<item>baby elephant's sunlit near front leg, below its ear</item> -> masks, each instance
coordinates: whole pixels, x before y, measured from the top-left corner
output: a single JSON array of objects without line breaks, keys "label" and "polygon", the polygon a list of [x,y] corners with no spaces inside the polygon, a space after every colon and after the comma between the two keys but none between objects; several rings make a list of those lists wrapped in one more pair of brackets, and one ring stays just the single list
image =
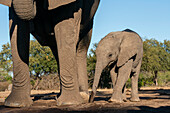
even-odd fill
[{"label": "baby elephant's sunlit near front leg, below its ear", "polygon": [[109,100],[110,102],[123,102],[122,90],[126,81],[130,76],[131,69],[132,69],[132,62],[133,60],[131,59],[127,63],[125,63],[122,67],[119,68],[116,85],[113,88],[114,92]]}]

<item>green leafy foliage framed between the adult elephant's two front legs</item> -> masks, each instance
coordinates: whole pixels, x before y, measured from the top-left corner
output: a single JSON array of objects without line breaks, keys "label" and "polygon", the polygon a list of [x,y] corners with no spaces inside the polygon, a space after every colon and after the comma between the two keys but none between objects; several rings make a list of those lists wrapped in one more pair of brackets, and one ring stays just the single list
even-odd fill
[{"label": "green leafy foliage framed between the adult elephant's two front legs", "polygon": [[57,72],[57,62],[49,47],[31,40],[29,70],[31,75],[41,76]]}]

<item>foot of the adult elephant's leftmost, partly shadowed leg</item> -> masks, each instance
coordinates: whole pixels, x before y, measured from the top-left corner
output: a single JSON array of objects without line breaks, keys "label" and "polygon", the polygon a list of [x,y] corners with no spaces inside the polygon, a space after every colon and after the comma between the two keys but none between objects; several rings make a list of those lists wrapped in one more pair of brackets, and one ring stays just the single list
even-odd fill
[{"label": "foot of the adult elephant's leftmost, partly shadowed leg", "polygon": [[32,99],[25,92],[13,91],[6,98],[4,105],[8,107],[30,107],[33,104]]}]

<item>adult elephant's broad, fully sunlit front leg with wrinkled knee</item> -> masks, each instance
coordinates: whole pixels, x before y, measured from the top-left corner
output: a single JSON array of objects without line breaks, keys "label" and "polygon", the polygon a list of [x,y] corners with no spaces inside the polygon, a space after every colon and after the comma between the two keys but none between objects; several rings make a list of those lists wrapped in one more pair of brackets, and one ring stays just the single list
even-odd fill
[{"label": "adult elephant's broad, fully sunlit front leg with wrinkled knee", "polygon": [[58,105],[81,104],[83,99],[79,93],[78,72],[76,61],[76,45],[80,29],[80,11],[74,18],[63,20],[55,26],[57,41],[61,95],[57,100]]}]

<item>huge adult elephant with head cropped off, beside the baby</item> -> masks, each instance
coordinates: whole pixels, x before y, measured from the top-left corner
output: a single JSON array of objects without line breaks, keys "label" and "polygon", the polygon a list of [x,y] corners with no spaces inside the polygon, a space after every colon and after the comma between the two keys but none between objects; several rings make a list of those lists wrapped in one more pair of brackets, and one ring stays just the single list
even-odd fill
[{"label": "huge adult elephant with head cropped off, beside the baby", "polygon": [[59,65],[61,95],[58,105],[88,100],[86,54],[93,18],[100,0],[1,0],[9,6],[10,41],[13,59],[13,88],[5,106],[26,107],[30,98],[30,33],[49,46]]}]

